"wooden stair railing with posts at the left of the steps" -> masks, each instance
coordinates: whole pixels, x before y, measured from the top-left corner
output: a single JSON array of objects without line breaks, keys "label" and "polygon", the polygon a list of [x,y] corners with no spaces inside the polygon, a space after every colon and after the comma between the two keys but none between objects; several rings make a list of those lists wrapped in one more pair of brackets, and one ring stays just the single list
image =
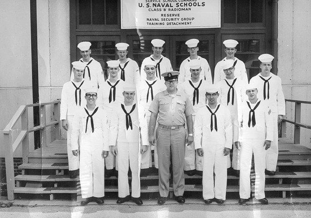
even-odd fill
[{"label": "wooden stair railing with posts at the left of the steps", "polygon": [[[53,105],[52,122],[46,122],[46,106]],[[29,133],[40,130],[40,140],[41,146],[47,145],[47,134],[46,127],[54,125],[52,131],[55,131],[55,139],[60,139],[60,100],[39,103],[39,104],[29,104],[20,106],[10,122],[1,131],[1,136],[3,137],[3,145],[5,147],[5,168],[6,168],[6,182],[7,182],[7,193],[8,200],[14,200],[14,188],[15,188],[15,177],[14,177],[14,162],[13,154],[22,145],[22,157],[23,163],[28,163],[29,155]],[[40,108],[40,125],[37,127],[28,127],[28,108],[39,107]],[[16,139],[12,140],[12,132],[17,124],[21,120],[21,131],[17,135]]]}]

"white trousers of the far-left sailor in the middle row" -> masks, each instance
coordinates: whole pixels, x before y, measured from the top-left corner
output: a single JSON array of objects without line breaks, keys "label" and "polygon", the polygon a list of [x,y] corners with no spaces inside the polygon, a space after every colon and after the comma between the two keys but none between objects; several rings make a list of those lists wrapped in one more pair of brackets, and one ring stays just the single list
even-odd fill
[{"label": "white trousers of the far-left sailor in the middle row", "polygon": [[71,150],[71,132],[72,132],[72,121],[74,116],[67,116],[68,130],[67,130],[67,155],[68,155],[68,166],[69,170],[79,169],[79,154],[74,156]]}]

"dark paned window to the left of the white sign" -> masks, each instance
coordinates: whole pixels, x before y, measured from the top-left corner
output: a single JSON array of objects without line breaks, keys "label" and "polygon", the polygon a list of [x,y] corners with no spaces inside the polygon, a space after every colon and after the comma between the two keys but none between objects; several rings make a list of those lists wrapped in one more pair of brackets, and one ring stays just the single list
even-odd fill
[{"label": "dark paned window to the left of the white sign", "polygon": [[117,0],[79,0],[78,25],[117,25]]}]

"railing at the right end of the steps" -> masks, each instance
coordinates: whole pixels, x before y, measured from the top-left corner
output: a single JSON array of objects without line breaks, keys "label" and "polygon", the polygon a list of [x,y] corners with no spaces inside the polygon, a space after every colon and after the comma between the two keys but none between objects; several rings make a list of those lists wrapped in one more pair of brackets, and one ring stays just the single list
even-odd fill
[{"label": "railing at the right end of the steps", "polygon": [[[294,102],[295,103],[295,120],[283,119],[282,130],[286,129],[286,123],[294,124],[294,144],[300,144],[300,127],[311,129],[310,125],[301,123],[301,104],[311,104],[310,101],[300,101],[285,99],[285,102]],[[286,131],[286,130],[285,130]]]}]

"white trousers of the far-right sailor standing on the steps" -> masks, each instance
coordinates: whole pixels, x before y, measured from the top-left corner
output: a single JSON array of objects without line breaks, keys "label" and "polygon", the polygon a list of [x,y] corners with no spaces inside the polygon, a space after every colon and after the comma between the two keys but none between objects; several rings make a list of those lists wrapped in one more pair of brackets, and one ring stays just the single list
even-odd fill
[{"label": "white trousers of the far-right sailor standing on the steps", "polygon": [[276,171],[278,156],[278,129],[277,129],[277,113],[272,113],[273,118],[273,142],[266,152],[266,169]]}]

